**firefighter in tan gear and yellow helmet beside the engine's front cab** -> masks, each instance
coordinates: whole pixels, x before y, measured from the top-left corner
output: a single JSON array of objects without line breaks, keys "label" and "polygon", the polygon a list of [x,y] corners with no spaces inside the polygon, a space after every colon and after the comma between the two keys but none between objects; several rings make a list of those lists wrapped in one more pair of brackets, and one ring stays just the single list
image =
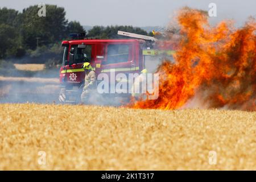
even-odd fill
[{"label": "firefighter in tan gear and yellow helmet beside the engine's front cab", "polygon": [[90,63],[86,62],[82,65],[85,71],[84,88],[82,89],[81,101],[88,102],[90,93],[96,89],[96,73],[92,70]]}]

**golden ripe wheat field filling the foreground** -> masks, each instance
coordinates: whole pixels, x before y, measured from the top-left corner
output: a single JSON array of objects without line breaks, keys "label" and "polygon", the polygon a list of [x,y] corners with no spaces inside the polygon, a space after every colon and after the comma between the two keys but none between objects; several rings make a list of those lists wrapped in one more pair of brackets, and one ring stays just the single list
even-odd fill
[{"label": "golden ripe wheat field filling the foreground", "polygon": [[256,169],[256,112],[54,104],[0,110],[1,170]]}]

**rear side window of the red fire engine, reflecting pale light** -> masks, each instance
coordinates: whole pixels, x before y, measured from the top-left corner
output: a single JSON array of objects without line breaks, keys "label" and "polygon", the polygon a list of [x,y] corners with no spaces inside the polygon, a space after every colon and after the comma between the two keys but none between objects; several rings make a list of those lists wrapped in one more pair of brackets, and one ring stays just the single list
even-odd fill
[{"label": "rear side window of the red fire engine, reflecting pale light", "polygon": [[109,44],[106,63],[113,64],[129,61],[129,47],[129,44]]}]

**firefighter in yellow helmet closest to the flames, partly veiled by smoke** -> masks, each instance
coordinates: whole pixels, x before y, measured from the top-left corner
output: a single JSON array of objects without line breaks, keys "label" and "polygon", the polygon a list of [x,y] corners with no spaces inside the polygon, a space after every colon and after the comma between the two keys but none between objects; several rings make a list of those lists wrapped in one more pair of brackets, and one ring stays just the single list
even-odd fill
[{"label": "firefighter in yellow helmet closest to the flames, partly veiled by smoke", "polygon": [[[141,71],[141,74],[135,78],[133,86],[131,88],[131,96],[135,97],[135,98],[139,98],[140,96],[142,96],[143,99],[146,98],[146,93],[140,93],[142,91],[142,88],[140,88],[140,86],[145,86],[143,84],[141,84],[142,82],[146,82],[147,84],[147,69],[143,69]],[[136,88],[139,88],[137,91],[139,91],[139,93],[136,93]],[[146,89],[146,88],[144,88]]]}]

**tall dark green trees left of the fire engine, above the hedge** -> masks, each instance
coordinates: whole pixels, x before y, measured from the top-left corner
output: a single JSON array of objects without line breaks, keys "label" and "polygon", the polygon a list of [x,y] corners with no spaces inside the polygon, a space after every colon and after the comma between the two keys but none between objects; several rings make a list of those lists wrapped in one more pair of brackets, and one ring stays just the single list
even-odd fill
[{"label": "tall dark green trees left of the fire engine, above the hedge", "polygon": [[54,47],[70,31],[84,32],[79,22],[65,18],[63,7],[46,5],[47,16],[38,16],[39,7],[30,6],[19,13],[0,9],[0,59],[35,55],[39,47]]}]

